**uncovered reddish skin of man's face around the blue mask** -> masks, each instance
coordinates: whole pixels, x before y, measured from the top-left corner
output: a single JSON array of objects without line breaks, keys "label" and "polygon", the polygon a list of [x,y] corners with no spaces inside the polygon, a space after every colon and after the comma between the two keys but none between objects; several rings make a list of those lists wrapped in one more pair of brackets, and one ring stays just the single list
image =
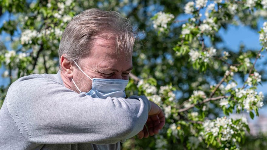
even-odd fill
[{"label": "uncovered reddish skin of man's face around the blue mask", "polygon": [[[129,73],[133,68],[132,55],[126,56],[120,52],[119,57],[117,56],[113,38],[96,38],[90,48],[89,56],[80,64],[90,78],[129,80]],[[89,92],[92,89],[92,80],[77,68],[74,70],[73,80],[82,92]],[[72,89],[77,92],[74,84]]]}]

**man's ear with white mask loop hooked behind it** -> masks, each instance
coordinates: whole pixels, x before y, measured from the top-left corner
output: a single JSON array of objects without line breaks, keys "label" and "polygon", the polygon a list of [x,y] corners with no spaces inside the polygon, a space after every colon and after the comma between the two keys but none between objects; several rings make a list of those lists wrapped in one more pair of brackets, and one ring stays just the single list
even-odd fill
[{"label": "man's ear with white mask loop hooked behind it", "polygon": [[61,64],[61,69],[63,74],[67,77],[67,78],[72,78],[73,77],[73,65],[71,62],[69,62],[65,57],[65,55],[63,54],[60,57],[60,64]]}]

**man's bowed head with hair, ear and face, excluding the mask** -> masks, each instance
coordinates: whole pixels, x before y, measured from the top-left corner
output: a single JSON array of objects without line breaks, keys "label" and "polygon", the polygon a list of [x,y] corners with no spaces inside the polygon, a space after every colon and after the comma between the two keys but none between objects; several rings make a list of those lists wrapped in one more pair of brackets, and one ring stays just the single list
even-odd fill
[{"label": "man's bowed head with hair, ear and face, excluding the mask", "polygon": [[61,77],[66,87],[88,92],[90,78],[127,79],[132,69],[135,33],[130,21],[114,11],[88,9],[65,28],[59,45]]}]

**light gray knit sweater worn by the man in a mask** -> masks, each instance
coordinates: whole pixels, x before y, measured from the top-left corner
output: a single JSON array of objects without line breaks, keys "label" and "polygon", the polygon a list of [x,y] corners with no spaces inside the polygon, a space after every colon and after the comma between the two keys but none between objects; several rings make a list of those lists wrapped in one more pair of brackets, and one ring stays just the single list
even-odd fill
[{"label": "light gray knit sweater worn by the man in a mask", "polygon": [[78,94],[60,72],[25,76],[9,87],[0,110],[0,150],[118,150],[143,129],[149,111],[145,96]]}]

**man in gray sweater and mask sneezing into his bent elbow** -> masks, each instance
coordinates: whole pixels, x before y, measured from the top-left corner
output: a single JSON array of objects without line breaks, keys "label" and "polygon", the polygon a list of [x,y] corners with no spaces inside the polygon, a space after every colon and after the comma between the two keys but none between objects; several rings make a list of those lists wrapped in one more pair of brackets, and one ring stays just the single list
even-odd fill
[{"label": "man in gray sweater and mask sneezing into his bent elbow", "polygon": [[124,98],[134,39],[116,12],[75,16],[60,41],[59,72],[25,76],[8,89],[0,149],[120,149],[136,134],[157,134],[165,124],[161,108],[145,96]]}]

